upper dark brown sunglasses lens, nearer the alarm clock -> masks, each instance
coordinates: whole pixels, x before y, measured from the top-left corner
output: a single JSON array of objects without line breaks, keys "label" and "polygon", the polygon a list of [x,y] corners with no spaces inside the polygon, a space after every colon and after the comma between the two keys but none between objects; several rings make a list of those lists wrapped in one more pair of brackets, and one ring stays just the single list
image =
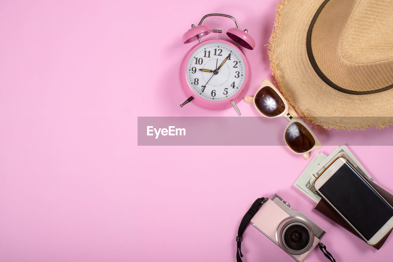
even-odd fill
[{"label": "upper dark brown sunglasses lens, nearer the alarm clock", "polygon": [[255,104],[258,110],[266,116],[276,116],[284,112],[283,99],[270,86],[264,86],[255,95]]}]

